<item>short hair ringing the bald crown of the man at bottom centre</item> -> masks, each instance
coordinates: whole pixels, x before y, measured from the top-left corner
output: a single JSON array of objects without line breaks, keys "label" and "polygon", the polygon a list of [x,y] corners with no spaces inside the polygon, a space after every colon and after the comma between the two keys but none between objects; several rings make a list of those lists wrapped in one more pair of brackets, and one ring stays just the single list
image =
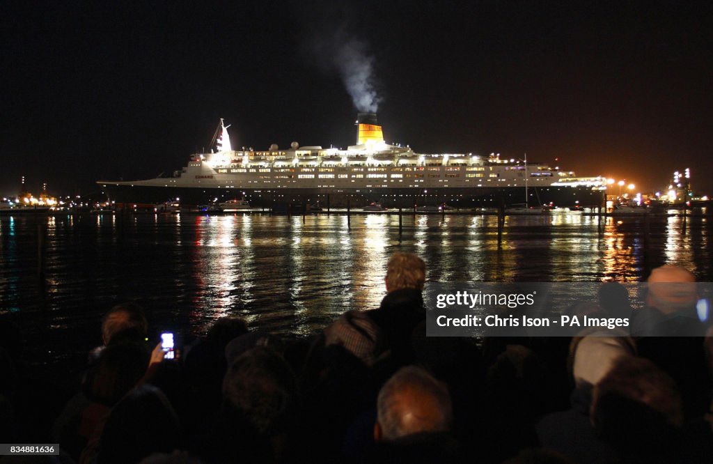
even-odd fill
[{"label": "short hair ringing the bald crown of the man at bottom centre", "polygon": [[[404,424],[404,418],[411,413],[409,405],[404,405],[403,395],[409,391],[426,395],[438,410],[435,418],[419,421],[417,425]],[[419,432],[446,432],[453,423],[453,405],[448,388],[436,380],[424,368],[409,365],[396,372],[379,391],[377,400],[377,420],[384,440],[396,440]]]}]

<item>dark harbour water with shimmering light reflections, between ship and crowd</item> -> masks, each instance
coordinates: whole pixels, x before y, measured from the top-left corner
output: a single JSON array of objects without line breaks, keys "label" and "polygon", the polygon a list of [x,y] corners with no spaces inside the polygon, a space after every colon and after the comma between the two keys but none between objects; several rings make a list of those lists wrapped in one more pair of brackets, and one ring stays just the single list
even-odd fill
[{"label": "dark harbour water with shimmering light reflections, between ship and crowd", "polygon": [[[712,281],[711,217],[597,218],[344,214],[0,217],[0,313],[43,363],[101,342],[101,315],[136,301],[150,326],[186,335],[239,315],[307,336],[383,298],[394,251],[424,258],[429,282],[640,281],[677,263]],[[645,236],[645,233],[647,236]]]}]

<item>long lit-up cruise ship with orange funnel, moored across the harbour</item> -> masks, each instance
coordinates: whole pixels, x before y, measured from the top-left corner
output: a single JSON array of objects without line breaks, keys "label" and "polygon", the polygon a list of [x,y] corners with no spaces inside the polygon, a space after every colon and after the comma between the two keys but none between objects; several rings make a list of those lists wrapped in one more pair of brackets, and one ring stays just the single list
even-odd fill
[{"label": "long lit-up cruise ship with orange funnel, moored across the harbour", "polygon": [[356,144],[341,148],[272,144],[265,151],[234,150],[223,120],[215,149],[190,156],[173,176],[138,181],[97,181],[118,202],[206,203],[240,198],[252,206],[363,206],[416,208],[473,206],[598,206],[606,180],[580,178],[526,158],[491,153],[416,153],[392,145],[376,114],[360,113]]}]

